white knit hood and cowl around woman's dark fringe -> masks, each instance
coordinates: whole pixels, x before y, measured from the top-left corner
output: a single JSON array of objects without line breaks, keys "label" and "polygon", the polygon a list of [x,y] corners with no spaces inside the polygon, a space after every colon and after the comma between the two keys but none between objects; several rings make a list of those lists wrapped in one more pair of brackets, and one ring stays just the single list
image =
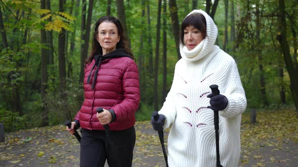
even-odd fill
[{"label": "white knit hood and cowl around woman's dark fringe", "polygon": [[[192,14],[202,14],[205,17],[206,24],[207,24],[206,26],[207,35],[206,35],[206,38],[203,39],[203,41],[192,50],[188,50],[187,47],[183,45],[180,41],[179,48],[180,48],[181,57],[187,61],[196,61],[206,56],[213,48],[217,38],[217,32],[218,32],[217,27],[213,22],[213,19],[206,12],[202,10],[193,10],[187,16]],[[183,39],[180,39],[180,40],[183,40]]]}]

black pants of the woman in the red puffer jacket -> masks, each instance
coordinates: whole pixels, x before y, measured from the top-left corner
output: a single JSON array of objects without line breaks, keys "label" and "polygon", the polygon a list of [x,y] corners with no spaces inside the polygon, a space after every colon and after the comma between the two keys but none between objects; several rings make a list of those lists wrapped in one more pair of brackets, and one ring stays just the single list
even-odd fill
[{"label": "black pants of the woman in the red puffer jacket", "polygon": [[[135,129],[110,131],[111,148],[104,130],[81,129],[80,166],[104,167],[106,159],[109,167],[132,165],[133,147],[135,144]],[[119,162],[117,162],[119,160]]]}]

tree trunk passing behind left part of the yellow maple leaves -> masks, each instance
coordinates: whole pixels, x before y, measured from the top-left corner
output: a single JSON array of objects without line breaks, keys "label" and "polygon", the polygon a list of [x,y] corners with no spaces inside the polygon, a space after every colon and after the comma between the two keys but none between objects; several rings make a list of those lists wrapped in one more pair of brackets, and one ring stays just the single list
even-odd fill
[{"label": "tree trunk passing behind left part of the yellow maple leaves", "polygon": [[[40,0],[40,9],[45,9],[45,0]],[[41,15],[40,18],[44,17]],[[46,32],[44,29],[40,29],[40,43],[41,45],[46,45]],[[41,126],[48,126],[48,109],[45,101],[46,88],[47,88],[47,64],[48,64],[48,52],[46,49],[41,48]]]}]

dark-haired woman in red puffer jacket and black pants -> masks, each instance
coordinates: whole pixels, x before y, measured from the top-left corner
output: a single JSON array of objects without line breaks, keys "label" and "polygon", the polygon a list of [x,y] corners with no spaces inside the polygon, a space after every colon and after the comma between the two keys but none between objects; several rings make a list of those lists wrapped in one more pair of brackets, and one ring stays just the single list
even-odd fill
[{"label": "dark-haired woman in red puffer jacket and black pants", "polygon": [[[94,26],[91,55],[85,62],[84,96],[67,130],[81,127],[80,166],[131,166],[135,112],[139,105],[138,69],[126,46],[120,21],[100,18]],[[98,108],[103,112],[97,113]],[[103,125],[109,125],[105,132]]]}]

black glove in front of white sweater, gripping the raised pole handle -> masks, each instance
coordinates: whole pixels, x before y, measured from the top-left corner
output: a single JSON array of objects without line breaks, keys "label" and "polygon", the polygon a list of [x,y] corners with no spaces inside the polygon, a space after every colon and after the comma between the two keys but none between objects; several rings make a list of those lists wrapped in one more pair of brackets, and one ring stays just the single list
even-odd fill
[{"label": "black glove in front of white sweater, gripping the raised pole handle", "polygon": [[210,105],[207,108],[212,109],[213,111],[221,111],[227,108],[228,106],[228,100],[223,95],[213,95],[209,94],[207,98],[210,98]]}]

